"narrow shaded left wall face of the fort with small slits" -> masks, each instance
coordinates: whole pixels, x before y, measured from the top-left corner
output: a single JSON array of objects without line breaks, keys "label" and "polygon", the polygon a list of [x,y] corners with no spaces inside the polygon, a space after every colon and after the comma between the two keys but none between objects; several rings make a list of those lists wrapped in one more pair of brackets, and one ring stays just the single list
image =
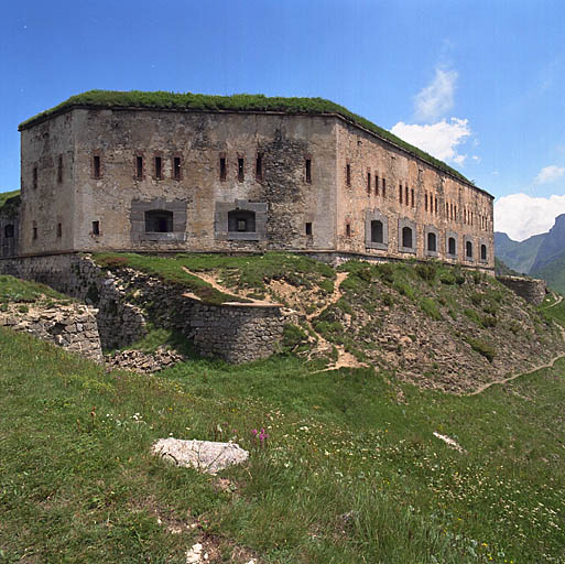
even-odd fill
[{"label": "narrow shaded left wall face of the fort with small slits", "polygon": [[79,218],[73,113],[23,130],[21,143],[20,253],[72,250]]}]

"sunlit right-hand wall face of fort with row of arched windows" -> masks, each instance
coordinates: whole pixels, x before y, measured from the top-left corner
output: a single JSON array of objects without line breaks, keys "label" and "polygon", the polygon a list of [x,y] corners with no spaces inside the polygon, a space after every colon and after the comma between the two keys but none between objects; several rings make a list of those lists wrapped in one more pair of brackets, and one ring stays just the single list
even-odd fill
[{"label": "sunlit right-hand wall face of fort with row of arched windows", "polygon": [[[337,153],[337,250],[493,268],[491,196],[343,121]],[[370,219],[385,224],[383,246],[368,245]],[[402,245],[403,227],[414,231],[412,247]],[[435,251],[428,234],[435,236]],[[449,237],[455,254],[448,252]],[[466,256],[467,241],[472,258]]]}]

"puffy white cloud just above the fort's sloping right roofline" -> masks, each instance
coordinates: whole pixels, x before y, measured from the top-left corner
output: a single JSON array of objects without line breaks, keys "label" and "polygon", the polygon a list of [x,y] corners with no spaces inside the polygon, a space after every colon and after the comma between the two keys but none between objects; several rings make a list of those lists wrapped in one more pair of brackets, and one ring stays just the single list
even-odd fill
[{"label": "puffy white cloud just above the fort's sloping right roofline", "polygon": [[457,145],[471,134],[468,120],[452,118],[431,126],[399,121],[391,132],[442,161],[463,164],[467,155],[457,153]]}]

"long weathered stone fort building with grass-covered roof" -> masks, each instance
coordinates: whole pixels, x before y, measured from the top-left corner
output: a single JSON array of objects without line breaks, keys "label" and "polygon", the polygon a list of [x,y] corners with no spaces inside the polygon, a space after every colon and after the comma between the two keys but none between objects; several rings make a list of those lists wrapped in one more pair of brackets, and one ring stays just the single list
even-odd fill
[{"label": "long weathered stone fort building with grass-covered roof", "polygon": [[326,100],[94,90],[20,131],[3,256],[286,249],[495,267],[490,194]]}]

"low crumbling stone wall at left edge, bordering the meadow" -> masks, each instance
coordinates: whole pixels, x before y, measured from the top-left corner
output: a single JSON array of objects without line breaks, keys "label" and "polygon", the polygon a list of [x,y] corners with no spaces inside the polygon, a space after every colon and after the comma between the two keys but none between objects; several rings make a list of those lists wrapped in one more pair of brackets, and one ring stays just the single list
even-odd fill
[{"label": "low crumbling stone wall at left edge, bordering the meadow", "polygon": [[83,304],[44,307],[37,304],[10,304],[0,312],[0,325],[29,333],[97,361],[102,360],[102,349],[97,311]]}]

